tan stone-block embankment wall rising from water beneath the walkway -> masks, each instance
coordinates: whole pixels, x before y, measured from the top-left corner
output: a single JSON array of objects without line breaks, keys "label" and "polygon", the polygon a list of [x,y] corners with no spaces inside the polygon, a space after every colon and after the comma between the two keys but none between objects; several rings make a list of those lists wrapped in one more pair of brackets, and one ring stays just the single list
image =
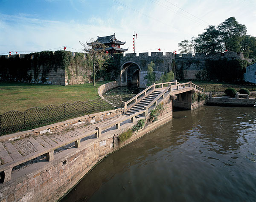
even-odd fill
[{"label": "tan stone-block embankment wall rising from water beneath the walkway", "polygon": [[119,142],[119,135],[131,129],[139,119],[135,123],[125,123],[119,129],[104,132],[99,138],[81,141],[79,148],[73,146],[57,152],[52,161],[43,159],[26,164],[24,168],[12,173],[9,182],[0,184],[0,201],[57,201],[100,160],[172,120],[171,97],[163,100],[163,105],[166,107],[160,112],[157,121],[153,123],[147,119],[144,128],[125,142]]}]

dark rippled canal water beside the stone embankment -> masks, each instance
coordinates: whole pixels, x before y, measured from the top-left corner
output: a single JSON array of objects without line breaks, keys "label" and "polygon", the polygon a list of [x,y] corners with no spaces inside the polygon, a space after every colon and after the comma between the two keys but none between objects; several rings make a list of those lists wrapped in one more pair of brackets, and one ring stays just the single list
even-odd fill
[{"label": "dark rippled canal water beside the stone embankment", "polygon": [[256,109],[173,118],[104,159],[63,201],[256,201]]}]

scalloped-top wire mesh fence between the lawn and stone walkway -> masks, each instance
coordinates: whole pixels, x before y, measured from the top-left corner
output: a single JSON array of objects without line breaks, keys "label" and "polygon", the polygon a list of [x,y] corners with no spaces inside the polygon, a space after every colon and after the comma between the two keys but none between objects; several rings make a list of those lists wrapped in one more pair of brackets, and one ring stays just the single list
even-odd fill
[{"label": "scalloped-top wire mesh fence between the lawn and stone walkway", "polygon": [[106,97],[105,99],[97,98],[85,102],[64,103],[59,106],[33,107],[24,112],[8,111],[0,115],[0,135],[38,128],[86,114],[94,114],[119,107],[122,107],[122,97],[117,95]]}]

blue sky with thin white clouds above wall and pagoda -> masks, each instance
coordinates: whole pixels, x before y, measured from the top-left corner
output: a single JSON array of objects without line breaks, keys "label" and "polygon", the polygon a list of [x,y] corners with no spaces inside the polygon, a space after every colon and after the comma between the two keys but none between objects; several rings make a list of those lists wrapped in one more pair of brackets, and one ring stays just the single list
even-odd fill
[{"label": "blue sky with thin white clouds above wall and pagoda", "polygon": [[0,0],[0,54],[80,51],[79,41],[114,32],[132,52],[134,30],[138,52],[178,51],[181,40],[231,16],[256,36],[255,0]]}]

